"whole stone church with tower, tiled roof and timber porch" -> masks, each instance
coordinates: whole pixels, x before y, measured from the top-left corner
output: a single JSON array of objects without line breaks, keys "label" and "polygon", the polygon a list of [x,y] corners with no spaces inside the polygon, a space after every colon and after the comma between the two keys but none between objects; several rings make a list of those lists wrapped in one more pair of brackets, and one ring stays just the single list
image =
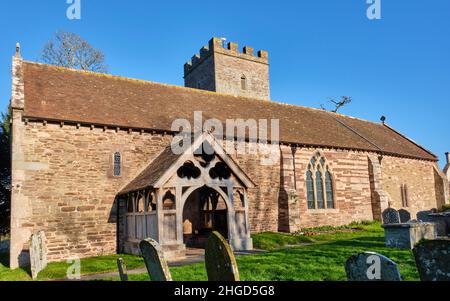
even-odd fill
[{"label": "whole stone church with tower, tiled roof and timber porch", "polygon": [[[38,231],[50,261],[138,254],[147,237],[170,259],[214,230],[249,250],[252,233],[380,220],[388,207],[415,219],[448,201],[436,155],[385,122],[272,101],[266,51],[213,38],[184,79],[178,87],[44,65],[17,47],[11,268]],[[194,127],[175,153],[173,122],[194,124],[195,112],[223,124],[278,120],[279,143],[268,146],[276,162],[237,151],[262,141]]]}]

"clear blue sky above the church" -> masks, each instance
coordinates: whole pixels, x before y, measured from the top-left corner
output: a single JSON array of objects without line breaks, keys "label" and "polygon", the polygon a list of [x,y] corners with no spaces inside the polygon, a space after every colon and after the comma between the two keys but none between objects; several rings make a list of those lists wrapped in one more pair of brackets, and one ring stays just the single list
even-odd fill
[{"label": "clear blue sky above the church", "polygon": [[[0,1],[0,110],[11,95],[15,43],[39,60],[58,30],[106,54],[112,74],[183,84],[183,64],[212,36],[269,51],[272,99],[320,107],[349,95],[342,113],[387,122],[441,157],[450,151],[450,1],[381,0]],[[311,129],[313,130],[313,129]],[[320,135],[320,133],[317,133]]]}]

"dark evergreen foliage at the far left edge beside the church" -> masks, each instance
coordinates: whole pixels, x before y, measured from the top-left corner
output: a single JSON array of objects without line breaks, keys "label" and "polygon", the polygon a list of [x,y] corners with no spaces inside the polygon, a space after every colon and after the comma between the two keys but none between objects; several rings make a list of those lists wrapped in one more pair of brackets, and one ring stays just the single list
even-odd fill
[{"label": "dark evergreen foliage at the far left edge beside the church", "polygon": [[0,236],[9,233],[11,213],[11,107],[0,119]]}]

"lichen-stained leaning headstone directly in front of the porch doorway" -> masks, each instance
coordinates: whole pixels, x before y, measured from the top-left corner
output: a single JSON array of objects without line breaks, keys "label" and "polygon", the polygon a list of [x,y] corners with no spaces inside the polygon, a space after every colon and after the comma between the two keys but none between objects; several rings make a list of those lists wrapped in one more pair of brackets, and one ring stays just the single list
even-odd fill
[{"label": "lichen-stained leaning headstone directly in front of the porch doorway", "polygon": [[208,238],[205,265],[209,281],[239,281],[233,251],[219,232],[214,231]]}]

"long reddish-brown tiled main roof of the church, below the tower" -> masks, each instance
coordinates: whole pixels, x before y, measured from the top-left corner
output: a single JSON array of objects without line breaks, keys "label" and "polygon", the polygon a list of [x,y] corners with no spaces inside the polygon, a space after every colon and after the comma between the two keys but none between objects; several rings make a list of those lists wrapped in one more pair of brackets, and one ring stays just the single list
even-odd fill
[{"label": "long reddish-brown tiled main roof of the church, below the tower", "polygon": [[[374,151],[436,161],[437,157],[382,124],[286,105],[118,76],[23,63],[24,116],[121,128],[170,131],[173,120],[279,119],[280,141]],[[269,132],[270,133],[270,132]]]}]

